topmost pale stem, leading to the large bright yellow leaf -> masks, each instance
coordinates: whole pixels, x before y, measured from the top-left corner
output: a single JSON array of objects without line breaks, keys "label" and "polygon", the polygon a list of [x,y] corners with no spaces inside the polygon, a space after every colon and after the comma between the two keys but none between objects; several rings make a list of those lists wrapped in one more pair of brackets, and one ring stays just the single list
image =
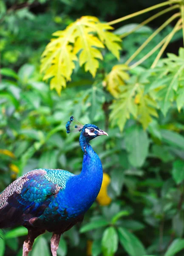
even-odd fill
[{"label": "topmost pale stem, leading to the large bright yellow leaf", "polygon": [[143,10],[141,10],[141,11],[139,11],[139,12],[134,12],[134,13],[132,13],[132,14],[126,15],[126,16],[124,16],[124,17],[121,17],[121,18],[119,18],[119,19],[117,19],[117,20],[112,20],[112,21],[108,22],[107,24],[108,24],[108,25],[113,25],[113,24],[119,23],[119,22],[121,22],[121,21],[128,20],[128,19],[130,19],[130,18],[132,18],[132,17],[136,17],[136,16],[138,16],[138,15],[141,15],[141,14],[143,14],[143,13],[145,13],[145,12],[150,12],[150,11],[152,11],[152,10],[154,10],[154,9],[157,9],[157,8],[160,8],[160,7],[162,7],[162,6],[166,6],[166,5],[169,5],[169,4],[172,4],[172,3],[173,3],[173,1],[166,1],[166,2],[164,2],[164,3],[159,3],[159,4],[156,4],[156,5],[154,5],[154,6],[151,6],[151,7],[148,7],[148,8],[146,8],[146,9],[143,9]]}]

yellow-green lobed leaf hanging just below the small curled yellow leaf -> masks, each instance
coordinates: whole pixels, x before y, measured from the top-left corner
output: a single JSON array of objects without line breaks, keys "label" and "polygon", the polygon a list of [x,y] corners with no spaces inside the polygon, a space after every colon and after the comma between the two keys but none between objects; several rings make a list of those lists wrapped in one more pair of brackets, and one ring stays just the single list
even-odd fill
[{"label": "yellow-green lobed leaf hanging just below the small curled yellow leaf", "polygon": [[152,121],[152,116],[158,117],[157,103],[150,94],[144,94],[145,85],[134,81],[122,87],[119,98],[111,105],[110,120],[112,125],[118,125],[122,131],[127,119],[132,115],[144,129]]}]

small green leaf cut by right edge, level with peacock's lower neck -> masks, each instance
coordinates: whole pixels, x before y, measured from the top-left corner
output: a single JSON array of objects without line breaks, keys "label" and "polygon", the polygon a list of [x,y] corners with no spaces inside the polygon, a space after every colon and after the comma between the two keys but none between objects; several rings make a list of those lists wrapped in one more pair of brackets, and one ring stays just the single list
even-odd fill
[{"label": "small green leaf cut by right edge, level with peacock's lower neck", "polygon": [[176,184],[179,184],[184,180],[184,161],[176,160],[173,163],[172,175]]}]

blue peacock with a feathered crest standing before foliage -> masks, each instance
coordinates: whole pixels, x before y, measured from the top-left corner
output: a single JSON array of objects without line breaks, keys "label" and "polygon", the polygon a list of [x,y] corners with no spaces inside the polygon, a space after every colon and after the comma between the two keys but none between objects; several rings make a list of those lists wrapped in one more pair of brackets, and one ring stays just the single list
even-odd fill
[{"label": "blue peacock with a feathered crest standing before foliage", "polygon": [[82,125],[73,116],[66,131],[81,132],[79,144],[84,153],[79,175],[61,169],[34,169],[11,183],[0,194],[0,229],[23,225],[28,235],[23,244],[23,256],[28,256],[37,236],[52,232],[51,252],[57,256],[60,236],[77,222],[99,194],[103,171],[90,140],[107,135],[96,125]]}]

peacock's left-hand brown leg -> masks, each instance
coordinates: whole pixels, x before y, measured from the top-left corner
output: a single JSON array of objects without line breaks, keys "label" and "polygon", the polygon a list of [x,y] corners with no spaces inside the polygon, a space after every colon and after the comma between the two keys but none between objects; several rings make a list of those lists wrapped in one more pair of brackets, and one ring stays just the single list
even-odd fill
[{"label": "peacock's left-hand brown leg", "polygon": [[45,233],[45,230],[28,230],[28,236],[23,244],[23,256],[28,256],[28,253],[32,250],[34,239],[43,233]]}]

